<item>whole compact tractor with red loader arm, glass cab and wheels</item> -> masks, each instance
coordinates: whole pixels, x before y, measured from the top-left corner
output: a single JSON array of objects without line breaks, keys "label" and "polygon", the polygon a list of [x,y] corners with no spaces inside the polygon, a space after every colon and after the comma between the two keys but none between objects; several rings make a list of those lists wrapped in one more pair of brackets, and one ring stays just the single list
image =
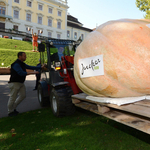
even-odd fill
[{"label": "whole compact tractor with red loader arm, glass cab and wheels", "polygon": [[74,110],[71,95],[81,92],[73,75],[77,46],[74,41],[58,39],[38,46],[41,65],[45,65],[38,85],[38,99],[41,106],[50,104],[56,116],[71,114]]}]

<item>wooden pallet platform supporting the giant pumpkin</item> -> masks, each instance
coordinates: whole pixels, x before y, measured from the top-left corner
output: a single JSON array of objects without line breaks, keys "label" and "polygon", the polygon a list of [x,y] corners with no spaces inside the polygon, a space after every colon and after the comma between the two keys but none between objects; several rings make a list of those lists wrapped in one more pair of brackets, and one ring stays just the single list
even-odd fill
[{"label": "wooden pallet platform supporting the giant pumpkin", "polygon": [[72,95],[72,103],[85,110],[150,134],[150,100],[118,106],[86,99],[88,95]]}]

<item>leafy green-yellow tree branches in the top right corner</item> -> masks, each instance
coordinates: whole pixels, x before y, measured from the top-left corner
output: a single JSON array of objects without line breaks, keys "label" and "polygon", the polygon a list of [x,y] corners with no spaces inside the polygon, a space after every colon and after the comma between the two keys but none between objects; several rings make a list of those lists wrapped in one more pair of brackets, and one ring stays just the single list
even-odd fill
[{"label": "leafy green-yellow tree branches in the top right corner", "polygon": [[136,0],[136,6],[146,13],[145,19],[150,19],[150,0]]}]

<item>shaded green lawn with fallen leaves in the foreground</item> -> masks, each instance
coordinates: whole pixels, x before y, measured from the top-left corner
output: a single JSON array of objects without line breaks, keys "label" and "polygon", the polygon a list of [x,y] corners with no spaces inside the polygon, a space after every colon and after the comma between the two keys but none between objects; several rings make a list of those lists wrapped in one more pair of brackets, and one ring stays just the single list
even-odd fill
[{"label": "shaded green lawn with fallen leaves in the foreground", "polygon": [[1,118],[0,125],[0,150],[150,149],[148,135],[80,109],[56,118],[44,108]]}]

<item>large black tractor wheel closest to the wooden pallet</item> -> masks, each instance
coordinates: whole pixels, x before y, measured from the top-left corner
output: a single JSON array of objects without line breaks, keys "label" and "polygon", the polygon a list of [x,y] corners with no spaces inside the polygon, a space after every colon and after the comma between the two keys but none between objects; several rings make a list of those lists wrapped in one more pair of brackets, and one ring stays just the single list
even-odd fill
[{"label": "large black tractor wheel closest to the wooden pallet", "polygon": [[61,89],[52,89],[50,103],[53,114],[57,117],[72,115],[75,112],[75,106],[72,103],[71,95],[73,94],[70,87]]}]

